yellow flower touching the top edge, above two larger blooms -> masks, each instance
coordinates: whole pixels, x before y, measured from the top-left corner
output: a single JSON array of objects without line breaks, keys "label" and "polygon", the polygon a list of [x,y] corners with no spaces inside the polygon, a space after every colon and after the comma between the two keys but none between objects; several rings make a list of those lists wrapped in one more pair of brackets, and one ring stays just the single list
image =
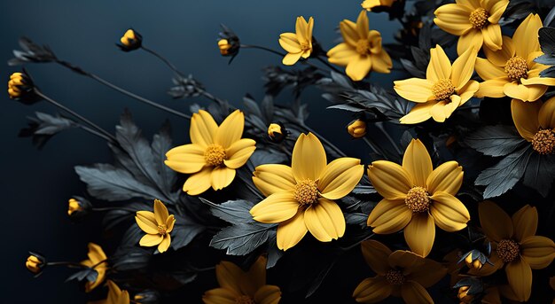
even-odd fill
[{"label": "yellow flower touching the top edge, above two larger blooms", "polygon": [[498,22],[509,0],[456,0],[435,10],[434,23],[452,35],[460,36],[457,53],[482,45],[492,51],[501,50],[501,26]]}]

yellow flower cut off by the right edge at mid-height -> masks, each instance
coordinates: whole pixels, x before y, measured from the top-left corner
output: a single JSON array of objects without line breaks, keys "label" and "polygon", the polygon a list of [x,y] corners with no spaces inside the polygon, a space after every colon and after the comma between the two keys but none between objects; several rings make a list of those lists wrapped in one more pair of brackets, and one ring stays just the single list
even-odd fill
[{"label": "yellow flower cut off by the right edge at mid-height", "polygon": [[555,97],[543,103],[524,103],[512,99],[512,121],[520,136],[532,144],[535,152],[551,154],[555,152]]}]

